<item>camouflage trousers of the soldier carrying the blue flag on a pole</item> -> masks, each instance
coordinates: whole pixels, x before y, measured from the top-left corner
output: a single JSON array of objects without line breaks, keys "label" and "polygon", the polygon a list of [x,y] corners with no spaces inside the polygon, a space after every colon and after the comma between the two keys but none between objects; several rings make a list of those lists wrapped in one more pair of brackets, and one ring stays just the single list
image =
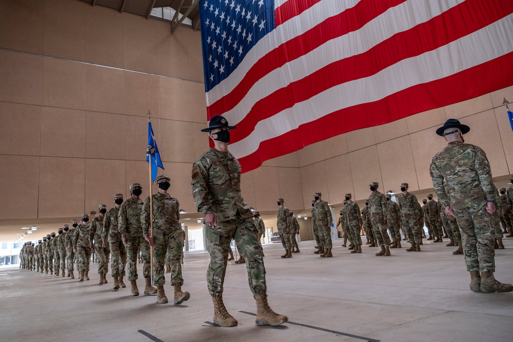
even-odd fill
[{"label": "camouflage trousers of the soldier carrying the blue flag on a pole", "polygon": [[169,251],[171,261],[171,286],[174,284],[184,285],[182,276],[182,250],[185,244],[185,232],[182,229],[160,230],[153,229],[153,284],[164,285],[164,267],[166,254]]}]

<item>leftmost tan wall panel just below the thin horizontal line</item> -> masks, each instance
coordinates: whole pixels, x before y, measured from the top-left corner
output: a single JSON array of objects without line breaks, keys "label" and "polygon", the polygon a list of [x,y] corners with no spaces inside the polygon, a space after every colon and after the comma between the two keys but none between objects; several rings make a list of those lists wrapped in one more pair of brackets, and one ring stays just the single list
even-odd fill
[{"label": "leftmost tan wall panel just below the thin horizontal line", "polygon": [[0,50],[0,101],[41,105],[43,57]]}]

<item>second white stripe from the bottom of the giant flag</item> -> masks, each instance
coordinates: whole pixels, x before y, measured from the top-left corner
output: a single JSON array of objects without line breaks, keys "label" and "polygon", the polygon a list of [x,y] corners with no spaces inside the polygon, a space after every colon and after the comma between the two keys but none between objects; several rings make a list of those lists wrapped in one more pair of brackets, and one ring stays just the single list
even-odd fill
[{"label": "second white stripe from the bottom of the giant flag", "polygon": [[394,34],[425,23],[464,1],[446,0],[443,1],[443,4],[435,5],[435,1],[426,3],[425,0],[411,0],[394,7],[370,21],[360,30],[331,39],[319,48],[271,71],[253,85],[239,104],[222,115],[229,123],[236,125],[246,117],[259,100],[273,92],[287,87],[290,83],[299,81],[333,62],[364,53]]}]

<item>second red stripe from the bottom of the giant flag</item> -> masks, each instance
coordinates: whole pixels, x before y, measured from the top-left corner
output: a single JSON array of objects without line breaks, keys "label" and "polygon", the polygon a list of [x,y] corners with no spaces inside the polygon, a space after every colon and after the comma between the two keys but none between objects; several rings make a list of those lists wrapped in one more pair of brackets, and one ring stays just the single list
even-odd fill
[{"label": "second red stripe from the bottom of the giant flag", "polygon": [[[486,6],[483,7],[486,3]],[[367,52],[331,63],[257,102],[237,124],[231,142],[253,132],[259,121],[339,84],[371,76],[397,62],[435,50],[513,13],[513,1],[467,0],[411,30],[393,35]],[[486,8],[487,7],[487,8]],[[486,8],[486,11],[483,11]],[[450,23],[450,25],[447,25]]]}]

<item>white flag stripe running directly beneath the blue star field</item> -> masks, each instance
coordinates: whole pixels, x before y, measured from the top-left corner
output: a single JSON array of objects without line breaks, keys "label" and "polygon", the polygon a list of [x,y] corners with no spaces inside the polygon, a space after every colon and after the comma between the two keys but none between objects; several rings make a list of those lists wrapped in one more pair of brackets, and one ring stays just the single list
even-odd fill
[{"label": "white flag stripe running directly beneath the blue star field", "polygon": [[[223,79],[218,85],[210,89],[206,94],[207,106],[210,106],[226,94],[230,93],[238,85],[249,69],[269,51],[274,50],[295,36],[301,35],[326,20],[326,18],[342,13],[348,8],[358,4],[360,0],[323,0],[307,11],[297,15],[289,21],[275,28],[265,35],[246,54],[239,66]],[[316,20],[311,20],[310,17]]]}]

